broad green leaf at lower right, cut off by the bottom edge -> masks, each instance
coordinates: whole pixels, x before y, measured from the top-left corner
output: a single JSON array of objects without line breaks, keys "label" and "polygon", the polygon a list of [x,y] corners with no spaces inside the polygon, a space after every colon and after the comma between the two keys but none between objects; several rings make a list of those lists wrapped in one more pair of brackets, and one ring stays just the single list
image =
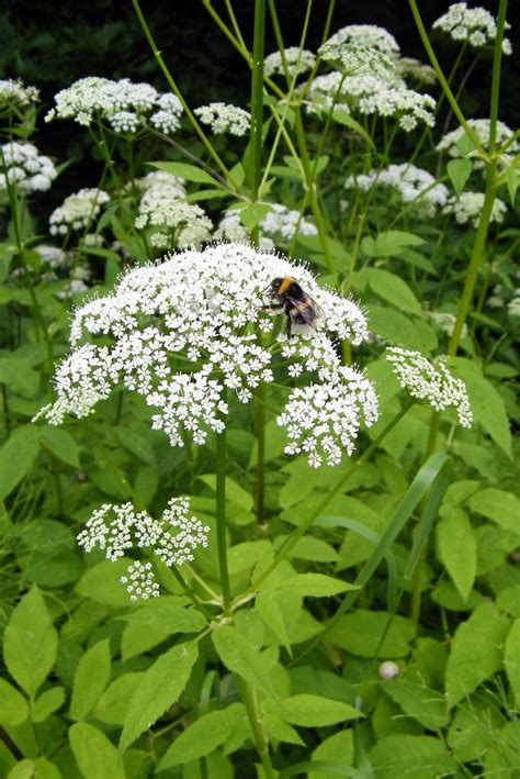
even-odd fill
[{"label": "broad green leaf at lower right, cut off by the bottom edge", "polygon": [[457,770],[442,741],[432,736],[388,736],[372,747],[369,757],[381,779],[439,779]]}]

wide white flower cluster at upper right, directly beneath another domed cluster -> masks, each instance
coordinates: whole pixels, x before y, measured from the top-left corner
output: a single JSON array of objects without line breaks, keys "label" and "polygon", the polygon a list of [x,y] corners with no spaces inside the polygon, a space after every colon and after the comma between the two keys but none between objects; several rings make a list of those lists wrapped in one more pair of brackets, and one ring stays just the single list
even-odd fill
[{"label": "wide white flower cluster at upper right, directly beneath another domed cluster", "polygon": [[432,127],[436,120],[436,101],[430,94],[409,89],[395,70],[384,78],[375,76],[347,76],[335,70],[314,79],[308,91],[307,109],[310,112],[330,110],[332,104],[347,113],[357,111],[364,115],[394,116],[405,132],[415,130],[419,122]]}]

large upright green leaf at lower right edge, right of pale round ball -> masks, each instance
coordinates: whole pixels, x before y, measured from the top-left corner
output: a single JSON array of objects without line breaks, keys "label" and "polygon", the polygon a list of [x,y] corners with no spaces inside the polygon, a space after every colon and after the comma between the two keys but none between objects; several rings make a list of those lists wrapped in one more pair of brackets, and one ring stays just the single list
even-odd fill
[{"label": "large upright green leaf at lower right edge, right of pale round ball", "polygon": [[445,691],[450,708],[500,670],[501,645],[508,626],[509,621],[489,602],[478,605],[459,625],[446,666]]}]

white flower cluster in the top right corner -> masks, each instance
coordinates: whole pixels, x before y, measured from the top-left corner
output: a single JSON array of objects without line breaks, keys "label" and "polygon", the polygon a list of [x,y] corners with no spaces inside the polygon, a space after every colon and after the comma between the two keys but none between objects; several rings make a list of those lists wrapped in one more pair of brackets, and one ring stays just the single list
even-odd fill
[{"label": "white flower cluster in the top right corner", "polygon": [[[465,2],[455,2],[448,11],[433,22],[433,29],[443,30],[454,41],[467,41],[471,46],[478,48],[493,44],[497,36],[497,22],[485,8],[467,8]],[[506,22],[506,30],[510,25]],[[511,42],[502,41],[504,54],[511,54]]]}]

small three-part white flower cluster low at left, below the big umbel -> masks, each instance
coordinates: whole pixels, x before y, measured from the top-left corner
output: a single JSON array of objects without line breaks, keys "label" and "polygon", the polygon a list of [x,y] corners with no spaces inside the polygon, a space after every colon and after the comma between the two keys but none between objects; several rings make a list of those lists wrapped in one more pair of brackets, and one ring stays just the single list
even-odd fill
[{"label": "small three-part white flower cluster low at left, below the big umbel", "polygon": [[[207,546],[210,532],[210,527],[189,511],[188,498],[172,498],[160,520],[154,520],[146,511],[136,512],[132,503],[104,503],[88,520],[78,535],[78,544],[86,552],[94,547],[103,549],[106,559],[112,561],[137,547],[154,553],[169,568],[181,566],[194,559],[196,548]],[[150,563],[133,563],[122,581],[127,585],[133,601],[159,594]]]}]

